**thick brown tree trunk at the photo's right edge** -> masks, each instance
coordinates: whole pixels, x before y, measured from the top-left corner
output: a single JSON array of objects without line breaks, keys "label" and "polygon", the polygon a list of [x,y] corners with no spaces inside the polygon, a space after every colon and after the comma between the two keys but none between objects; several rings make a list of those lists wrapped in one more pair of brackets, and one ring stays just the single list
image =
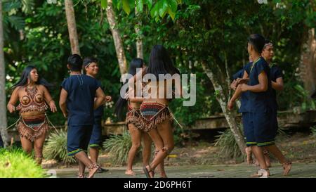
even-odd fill
[{"label": "thick brown tree trunk at the photo's right edge", "polygon": [[301,79],[304,88],[311,95],[316,91],[316,39],[315,29],[310,29],[303,37],[301,49]]}]

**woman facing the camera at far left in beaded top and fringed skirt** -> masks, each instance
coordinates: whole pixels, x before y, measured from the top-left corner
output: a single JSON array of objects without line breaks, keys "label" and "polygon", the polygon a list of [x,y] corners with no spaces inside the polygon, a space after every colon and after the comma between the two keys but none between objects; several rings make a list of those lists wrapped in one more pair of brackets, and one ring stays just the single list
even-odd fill
[{"label": "woman facing the camera at far left in beaded top and fringed skirt", "polygon": [[[37,68],[29,65],[23,70],[20,80],[13,85],[13,92],[7,105],[10,113],[19,111],[17,127],[22,148],[31,154],[34,143],[35,160],[39,165],[43,159],[43,145],[48,130],[48,105],[53,113],[57,111],[48,91],[50,87],[52,84],[39,76]],[[15,108],[18,101],[19,104]]]}]

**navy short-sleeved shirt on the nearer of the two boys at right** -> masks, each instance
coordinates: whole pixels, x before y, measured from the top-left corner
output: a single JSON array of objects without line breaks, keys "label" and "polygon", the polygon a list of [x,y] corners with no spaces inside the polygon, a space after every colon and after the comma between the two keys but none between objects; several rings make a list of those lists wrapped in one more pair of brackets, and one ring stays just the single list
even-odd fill
[{"label": "navy short-sleeved shirt on the nearer of the two boys at right", "polygon": [[260,57],[257,62],[251,63],[251,65],[245,66],[246,72],[249,74],[248,84],[251,86],[259,84],[258,76],[261,72],[265,72],[268,77],[268,89],[263,92],[249,92],[248,111],[251,113],[266,113],[268,108],[272,108],[271,101],[271,80],[270,80],[270,68],[264,58]]}]

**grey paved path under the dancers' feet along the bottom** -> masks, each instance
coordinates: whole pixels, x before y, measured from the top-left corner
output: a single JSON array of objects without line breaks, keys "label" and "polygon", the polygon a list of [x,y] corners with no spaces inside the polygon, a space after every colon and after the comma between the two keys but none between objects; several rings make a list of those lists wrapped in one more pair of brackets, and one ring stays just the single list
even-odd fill
[{"label": "grey paved path under the dancers' feet along the bottom", "polygon": [[[96,174],[96,178],[144,178],[142,167],[134,167],[135,177],[124,174],[125,167],[107,167],[109,172]],[[170,178],[249,178],[256,172],[254,165],[195,165],[195,166],[166,166],[166,172]],[[270,168],[272,178],[316,178],[316,162],[297,162],[289,176],[282,175],[282,166],[274,165]],[[57,177],[76,177],[77,169],[56,169]],[[156,174],[159,177],[159,173]]]}]

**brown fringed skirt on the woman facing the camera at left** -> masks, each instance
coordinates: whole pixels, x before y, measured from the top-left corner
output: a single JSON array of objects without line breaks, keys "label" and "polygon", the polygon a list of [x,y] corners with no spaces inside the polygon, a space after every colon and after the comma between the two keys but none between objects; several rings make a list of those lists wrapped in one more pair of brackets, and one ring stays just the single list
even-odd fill
[{"label": "brown fringed skirt on the woman facing the camera at left", "polygon": [[29,141],[34,141],[43,134],[46,134],[48,121],[45,114],[33,117],[20,117],[17,127],[21,137],[25,137]]}]

